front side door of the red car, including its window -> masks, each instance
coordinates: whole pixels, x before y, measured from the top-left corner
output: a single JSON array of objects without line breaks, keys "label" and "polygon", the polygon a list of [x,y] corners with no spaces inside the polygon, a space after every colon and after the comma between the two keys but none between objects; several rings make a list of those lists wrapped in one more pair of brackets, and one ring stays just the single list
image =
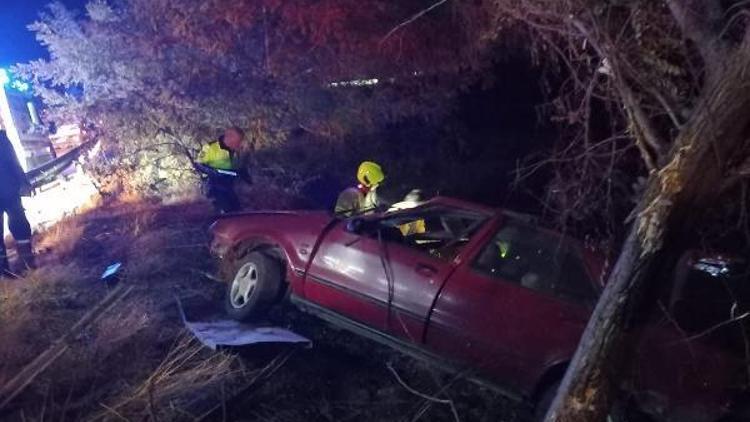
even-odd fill
[{"label": "front side door of the red car, including its window", "polygon": [[[305,284],[309,300],[414,343],[443,281],[450,254],[484,216],[436,206],[335,227],[321,242]],[[374,224],[373,224],[374,222]],[[460,245],[459,245],[460,246]]]}]

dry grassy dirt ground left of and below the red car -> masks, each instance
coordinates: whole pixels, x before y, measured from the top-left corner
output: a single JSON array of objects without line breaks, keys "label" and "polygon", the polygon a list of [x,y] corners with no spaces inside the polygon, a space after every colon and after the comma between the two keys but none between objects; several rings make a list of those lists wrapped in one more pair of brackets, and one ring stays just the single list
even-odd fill
[{"label": "dry grassy dirt ground left of and below the red car", "polygon": [[[13,398],[0,419],[525,419],[493,391],[288,305],[269,318],[309,337],[311,349],[202,347],[185,332],[177,297],[221,303],[223,286],[205,275],[212,221],[200,202],[118,203],[41,233],[40,269],[0,284],[0,399]],[[114,262],[123,263],[119,282],[102,282]],[[126,295],[75,326],[112,294]]]}]

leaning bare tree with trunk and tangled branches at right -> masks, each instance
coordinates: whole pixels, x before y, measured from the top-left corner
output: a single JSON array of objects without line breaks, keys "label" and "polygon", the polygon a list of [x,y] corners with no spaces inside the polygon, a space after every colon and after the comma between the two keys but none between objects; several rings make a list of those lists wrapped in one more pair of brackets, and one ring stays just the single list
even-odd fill
[{"label": "leaning bare tree with trunk and tangled branches at right", "polygon": [[[746,1],[498,0],[505,29],[526,31],[569,81],[558,104],[592,158],[591,115],[608,108],[609,140],[627,135],[646,188],[548,421],[606,418],[629,355],[633,317],[717,198],[750,162]],[[552,54],[549,54],[552,53]],[[548,59],[549,60],[549,59]],[[613,151],[616,151],[614,148]],[[577,163],[580,165],[580,160]]]}]

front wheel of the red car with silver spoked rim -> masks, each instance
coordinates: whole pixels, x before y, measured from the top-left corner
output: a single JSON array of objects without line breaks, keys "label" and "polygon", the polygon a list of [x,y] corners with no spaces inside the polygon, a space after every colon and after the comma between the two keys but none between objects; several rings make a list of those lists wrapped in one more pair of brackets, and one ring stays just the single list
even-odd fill
[{"label": "front wheel of the red car with silver spoked rim", "polygon": [[227,314],[237,321],[262,316],[278,297],[283,281],[281,263],[261,252],[251,252],[233,267],[224,300]]}]

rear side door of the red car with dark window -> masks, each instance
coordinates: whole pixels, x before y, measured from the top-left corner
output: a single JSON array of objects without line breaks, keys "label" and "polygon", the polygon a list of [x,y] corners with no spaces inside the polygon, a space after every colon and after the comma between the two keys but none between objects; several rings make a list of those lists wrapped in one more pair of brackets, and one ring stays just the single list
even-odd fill
[{"label": "rear side door of the red car with dark window", "polygon": [[530,392],[545,368],[572,356],[595,296],[574,248],[507,220],[448,279],[426,342]]}]

